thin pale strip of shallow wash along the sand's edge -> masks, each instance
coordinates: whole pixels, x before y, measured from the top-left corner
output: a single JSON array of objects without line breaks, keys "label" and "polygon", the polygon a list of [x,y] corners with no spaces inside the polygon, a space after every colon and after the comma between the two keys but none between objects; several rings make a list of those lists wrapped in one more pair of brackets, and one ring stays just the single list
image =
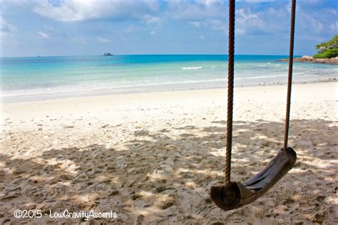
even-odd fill
[{"label": "thin pale strip of shallow wash along the sand's edge", "polygon": [[[292,84],[307,84],[307,83],[327,83],[335,82],[337,78],[324,78],[319,80],[309,80],[309,81],[293,81]],[[247,85],[235,85],[235,88],[246,88],[246,87],[255,87],[255,86],[274,86],[274,85],[286,85],[285,83],[273,82],[273,83],[257,83],[257,84],[247,84]],[[177,85],[176,85],[177,86]],[[191,87],[174,87],[171,85],[153,85],[147,86],[144,85],[145,89],[140,90],[127,90],[123,91],[123,88],[107,88],[107,89],[96,89],[96,90],[81,90],[81,91],[71,91],[63,93],[49,93],[49,94],[29,94],[29,95],[11,95],[3,96],[0,98],[1,104],[9,103],[26,103],[26,102],[36,102],[36,101],[48,101],[48,100],[58,100],[58,99],[67,99],[67,98],[86,98],[94,96],[107,96],[107,95],[128,95],[128,94],[137,94],[137,93],[162,93],[162,92],[173,92],[173,91],[185,91],[185,90],[210,90],[210,89],[226,89],[226,80],[223,85],[212,85],[210,87],[203,88],[191,88]],[[151,89],[150,87],[153,87]],[[148,88],[148,89],[146,89]]]}]

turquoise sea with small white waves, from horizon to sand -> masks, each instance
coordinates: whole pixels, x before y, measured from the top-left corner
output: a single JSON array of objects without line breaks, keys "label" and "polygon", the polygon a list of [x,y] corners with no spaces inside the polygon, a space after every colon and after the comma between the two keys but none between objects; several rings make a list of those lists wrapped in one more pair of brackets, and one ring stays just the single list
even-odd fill
[{"label": "turquoise sea with small white waves, from horizon to sand", "polygon": [[[235,56],[235,86],[283,84],[288,56]],[[295,83],[337,78],[338,66],[294,63]],[[227,55],[0,58],[1,102],[226,88]]]}]

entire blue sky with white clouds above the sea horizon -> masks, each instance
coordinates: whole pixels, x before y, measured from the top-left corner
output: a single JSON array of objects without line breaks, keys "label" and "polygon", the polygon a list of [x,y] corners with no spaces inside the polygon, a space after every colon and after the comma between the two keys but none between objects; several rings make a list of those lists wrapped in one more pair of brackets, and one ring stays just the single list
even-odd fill
[{"label": "entire blue sky with white clouds above the sea horizon", "polygon": [[[235,54],[287,55],[290,1],[237,0]],[[227,54],[228,1],[0,0],[0,56]],[[338,0],[298,0],[295,55],[338,33]]]}]

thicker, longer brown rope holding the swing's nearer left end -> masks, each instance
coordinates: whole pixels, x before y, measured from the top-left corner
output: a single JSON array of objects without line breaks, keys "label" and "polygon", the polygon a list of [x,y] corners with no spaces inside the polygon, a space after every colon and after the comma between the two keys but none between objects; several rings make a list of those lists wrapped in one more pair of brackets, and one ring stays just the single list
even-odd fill
[{"label": "thicker, longer brown rope holding the swing's nearer left end", "polygon": [[234,54],[235,54],[235,0],[229,1],[229,43],[227,66],[227,152],[225,155],[225,186],[230,184],[232,148],[232,107],[234,92]]}]

